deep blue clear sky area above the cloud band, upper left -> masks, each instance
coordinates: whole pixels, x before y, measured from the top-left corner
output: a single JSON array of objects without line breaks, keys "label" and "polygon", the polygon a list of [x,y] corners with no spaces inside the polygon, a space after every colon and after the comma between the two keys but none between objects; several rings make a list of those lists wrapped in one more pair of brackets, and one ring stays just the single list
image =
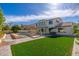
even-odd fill
[{"label": "deep blue clear sky area above the cloud band, upper left", "polygon": [[40,12],[47,10],[47,4],[33,4],[33,3],[10,3],[1,4],[5,15],[38,15]]}]

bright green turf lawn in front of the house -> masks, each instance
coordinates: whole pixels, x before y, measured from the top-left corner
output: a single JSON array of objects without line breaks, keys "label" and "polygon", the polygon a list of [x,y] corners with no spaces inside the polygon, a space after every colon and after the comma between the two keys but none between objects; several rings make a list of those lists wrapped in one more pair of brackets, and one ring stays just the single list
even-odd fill
[{"label": "bright green turf lawn in front of the house", "polygon": [[74,39],[46,37],[11,46],[13,56],[70,56]]}]

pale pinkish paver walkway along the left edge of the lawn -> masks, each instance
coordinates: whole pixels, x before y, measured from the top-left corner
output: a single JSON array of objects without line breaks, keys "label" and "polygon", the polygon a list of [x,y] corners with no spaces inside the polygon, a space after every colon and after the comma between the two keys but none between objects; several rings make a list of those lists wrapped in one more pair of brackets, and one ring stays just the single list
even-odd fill
[{"label": "pale pinkish paver walkway along the left edge of the lawn", "polygon": [[[39,38],[44,38],[44,36],[41,36]],[[10,42],[10,44],[0,47],[0,56],[11,56],[12,54],[11,54],[10,46],[13,44],[18,44],[18,43],[22,43],[22,42],[31,41],[31,40],[36,40],[39,38],[25,37],[25,38],[21,38],[21,39],[14,39],[14,41]],[[11,39],[10,35],[7,35],[6,40],[7,39]]]}]

